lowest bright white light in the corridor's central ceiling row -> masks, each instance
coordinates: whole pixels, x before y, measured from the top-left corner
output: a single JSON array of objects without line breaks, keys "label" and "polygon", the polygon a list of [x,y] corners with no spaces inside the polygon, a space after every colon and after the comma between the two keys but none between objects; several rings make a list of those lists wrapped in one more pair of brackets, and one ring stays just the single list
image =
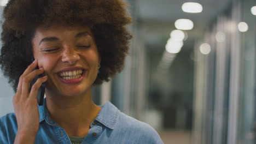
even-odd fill
[{"label": "lowest bright white light in the corridor's central ceiling row", "polygon": [[167,44],[165,45],[165,49],[169,53],[178,53],[181,51],[182,46],[183,41],[168,39]]}]

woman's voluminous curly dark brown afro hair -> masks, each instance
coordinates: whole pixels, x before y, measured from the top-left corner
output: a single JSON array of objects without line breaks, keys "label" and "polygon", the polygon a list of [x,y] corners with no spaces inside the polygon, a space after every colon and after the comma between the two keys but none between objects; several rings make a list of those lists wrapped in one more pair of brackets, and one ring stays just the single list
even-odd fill
[{"label": "woman's voluminous curly dark brown afro hair", "polygon": [[120,73],[132,37],[125,28],[132,21],[126,6],[121,0],[10,0],[3,12],[0,64],[14,91],[31,64],[36,28],[56,22],[91,28],[101,56],[100,74],[93,85]]}]

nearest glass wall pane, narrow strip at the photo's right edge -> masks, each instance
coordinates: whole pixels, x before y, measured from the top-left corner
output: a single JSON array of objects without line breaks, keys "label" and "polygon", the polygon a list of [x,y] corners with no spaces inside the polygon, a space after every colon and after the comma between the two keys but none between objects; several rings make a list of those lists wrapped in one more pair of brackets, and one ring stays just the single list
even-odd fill
[{"label": "nearest glass wall pane, narrow strip at the photo's right edge", "polygon": [[[240,35],[241,40],[241,88],[238,109],[237,143],[256,143],[256,15],[252,14],[255,1],[241,1],[241,21],[246,22],[248,31]],[[256,8],[255,8],[256,9]],[[255,12],[254,12],[255,13]]]}]

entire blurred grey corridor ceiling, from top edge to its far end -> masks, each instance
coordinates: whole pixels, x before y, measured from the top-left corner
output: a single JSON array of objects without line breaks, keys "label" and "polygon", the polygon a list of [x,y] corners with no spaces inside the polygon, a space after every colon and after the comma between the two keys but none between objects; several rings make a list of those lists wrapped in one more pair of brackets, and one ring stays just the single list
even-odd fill
[{"label": "entire blurred grey corridor ceiling, from top edge to its far end", "polygon": [[[185,2],[198,2],[202,4],[202,13],[191,14],[182,11]],[[211,22],[231,3],[231,0],[133,0],[136,21],[143,29],[146,43],[158,45],[162,39],[168,39],[168,35],[174,29],[177,19],[190,19],[194,22],[194,28],[188,33],[188,40],[202,37],[205,29]],[[166,38],[165,38],[166,37]]]}]

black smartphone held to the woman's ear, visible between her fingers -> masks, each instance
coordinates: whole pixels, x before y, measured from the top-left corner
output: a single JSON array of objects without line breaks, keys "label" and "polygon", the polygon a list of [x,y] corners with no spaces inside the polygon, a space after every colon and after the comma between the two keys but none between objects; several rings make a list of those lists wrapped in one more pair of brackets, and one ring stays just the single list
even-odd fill
[{"label": "black smartphone held to the woman's ear, visible between her fingers", "polygon": [[[34,61],[34,58],[32,58],[32,62]],[[39,69],[38,66],[36,69]],[[43,75],[38,75],[36,76],[30,83],[30,90],[32,88],[32,86],[34,85],[34,83],[36,83],[37,79],[39,79],[40,77],[43,77]],[[38,93],[37,93],[37,103],[38,105],[43,105],[44,102],[44,92],[45,92],[45,83],[42,83],[42,85],[40,86],[40,88],[38,89]]]}]

